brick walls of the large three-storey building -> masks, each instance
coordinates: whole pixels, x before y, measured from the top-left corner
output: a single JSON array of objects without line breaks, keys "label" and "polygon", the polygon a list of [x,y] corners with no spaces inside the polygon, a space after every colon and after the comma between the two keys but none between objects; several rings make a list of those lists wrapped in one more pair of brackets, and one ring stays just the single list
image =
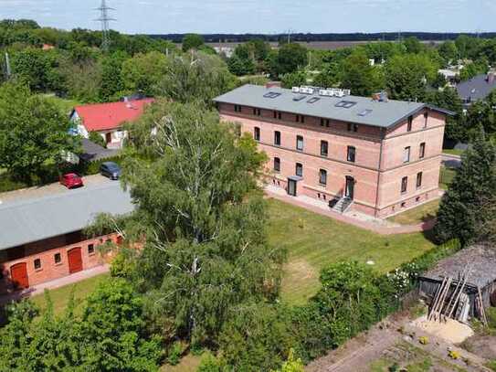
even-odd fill
[{"label": "brick walls of the large three-storey building", "polygon": [[[386,129],[229,103],[218,103],[218,109],[223,121],[238,123],[242,132],[259,133],[256,140],[269,156],[266,171],[273,185],[287,189],[298,163],[302,165],[298,195],[328,201],[343,197],[346,177],[353,177],[352,210],[380,218],[438,197],[443,113],[425,108]],[[298,136],[303,139],[302,149],[297,146]],[[322,141],[327,143],[327,154],[322,154]],[[348,159],[349,147],[354,147],[354,162]],[[274,169],[275,158],[280,159],[280,170]],[[321,171],[327,175],[325,185],[320,182]],[[417,177],[421,177],[419,186]]]}]

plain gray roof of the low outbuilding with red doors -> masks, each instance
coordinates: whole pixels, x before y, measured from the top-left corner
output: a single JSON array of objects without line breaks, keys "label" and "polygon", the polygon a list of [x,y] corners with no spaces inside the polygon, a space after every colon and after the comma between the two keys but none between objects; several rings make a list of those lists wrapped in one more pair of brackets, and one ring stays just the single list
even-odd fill
[{"label": "plain gray roof of the low outbuilding with red doors", "polygon": [[0,250],[84,229],[100,213],[123,215],[133,209],[119,182],[0,205]]}]

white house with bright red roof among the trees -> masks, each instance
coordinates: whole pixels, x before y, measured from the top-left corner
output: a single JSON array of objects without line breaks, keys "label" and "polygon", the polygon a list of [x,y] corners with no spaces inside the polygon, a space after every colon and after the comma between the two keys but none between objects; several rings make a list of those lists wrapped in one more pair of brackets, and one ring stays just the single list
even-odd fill
[{"label": "white house with bright red roof among the trees", "polygon": [[83,138],[89,138],[91,132],[96,132],[103,137],[108,148],[121,148],[127,136],[122,125],[139,119],[153,101],[148,98],[76,106],[70,120],[77,125],[77,131]]}]

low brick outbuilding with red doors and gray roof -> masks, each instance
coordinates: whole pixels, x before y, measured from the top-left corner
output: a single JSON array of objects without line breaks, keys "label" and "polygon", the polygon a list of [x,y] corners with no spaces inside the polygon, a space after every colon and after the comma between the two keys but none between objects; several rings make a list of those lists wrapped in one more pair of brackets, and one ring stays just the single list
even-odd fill
[{"label": "low brick outbuilding with red doors and gray roof", "polygon": [[119,183],[85,186],[47,197],[0,204],[0,293],[25,289],[104,263],[98,246],[117,234],[83,234],[100,213],[132,212]]}]

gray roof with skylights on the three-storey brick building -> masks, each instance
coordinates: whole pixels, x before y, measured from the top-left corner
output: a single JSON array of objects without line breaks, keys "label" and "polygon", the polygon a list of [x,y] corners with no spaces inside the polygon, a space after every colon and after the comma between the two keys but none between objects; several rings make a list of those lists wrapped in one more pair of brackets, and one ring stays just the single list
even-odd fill
[{"label": "gray roof with skylights on the three-storey brick building", "polygon": [[[264,94],[269,91],[280,93],[280,96],[273,99],[265,98]],[[308,99],[293,101],[293,98],[298,96],[301,96],[301,93],[293,93],[291,90],[277,87],[268,89],[259,85],[247,84],[217,97],[214,101],[385,128],[393,126],[409,115],[427,107],[425,103],[420,102],[374,101],[369,97],[358,96],[338,98],[309,95]],[[318,97],[320,100],[314,103],[307,103],[311,97]],[[339,101],[353,101],[355,104],[349,109],[335,107],[335,104]],[[430,108],[438,110],[436,108]],[[365,110],[372,111],[361,116],[360,113],[365,112]],[[450,112],[443,111],[443,113],[449,114]]]}]

